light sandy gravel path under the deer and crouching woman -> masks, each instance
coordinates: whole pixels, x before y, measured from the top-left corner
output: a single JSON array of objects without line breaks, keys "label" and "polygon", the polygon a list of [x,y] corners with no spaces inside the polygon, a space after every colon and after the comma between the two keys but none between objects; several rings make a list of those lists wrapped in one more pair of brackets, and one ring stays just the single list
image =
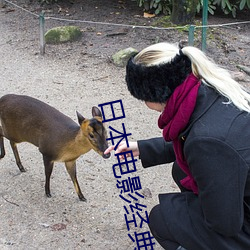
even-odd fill
[{"label": "light sandy gravel path under the deer and crouching woman", "polygon": [[[0,9],[1,95],[18,93],[39,98],[75,121],[75,111],[86,117],[91,107],[122,99],[123,120],[130,140],[159,136],[157,116],[134,100],[124,84],[124,69],[116,68],[100,55],[86,53],[82,43],[51,46],[39,55],[37,20],[19,11]],[[31,32],[32,31],[32,32]],[[34,31],[34,32],[33,32]],[[113,122],[121,128],[121,121]],[[20,173],[5,140],[1,160],[0,249],[134,249],[124,220],[125,202],[119,197],[112,165],[95,152],[80,157],[78,181],[87,203],[78,200],[64,165],[55,165],[51,178],[52,198],[44,195],[42,156],[30,144],[20,144],[26,173]],[[159,192],[176,190],[170,167],[143,170],[137,162],[147,211],[158,202]],[[131,226],[130,232],[148,230]],[[155,245],[154,249],[161,249]]]}]

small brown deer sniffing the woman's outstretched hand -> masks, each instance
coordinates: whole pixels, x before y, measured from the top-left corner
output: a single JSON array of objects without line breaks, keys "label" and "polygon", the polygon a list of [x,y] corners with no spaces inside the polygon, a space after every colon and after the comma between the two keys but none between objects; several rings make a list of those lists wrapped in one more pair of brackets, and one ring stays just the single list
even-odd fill
[{"label": "small brown deer sniffing the woman's outstretched hand", "polygon": [[9,139],[16,164],[21,172],[25,169],[20,161],[17,143],[29,142],[39,148],[45,167],[45,193],[50,194],[50,176],[54,162],[64,162],[81,201],[83,196],[76,176],[76,159],[94,149],[104,158],[108,144],[102,114],[92,107],[93,118],[86,119],[77,112],[80,126],[60,111],[29,96],[9,94],[0,98],[0,158],[5,156],[3,137]]}]

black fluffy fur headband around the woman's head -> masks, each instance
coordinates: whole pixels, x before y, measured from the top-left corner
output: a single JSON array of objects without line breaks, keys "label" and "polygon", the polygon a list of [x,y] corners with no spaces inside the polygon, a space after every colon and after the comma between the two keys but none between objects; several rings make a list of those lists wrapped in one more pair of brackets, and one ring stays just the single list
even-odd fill
[{"label": "black fluffy fur headband around the woman's head", "polygon": [[126,82],[131,95],[142,101],[165,103],[192,72],[191,61],[182,52],[171,62],[154,66],[135,64],[134,56],[126,66]]}]

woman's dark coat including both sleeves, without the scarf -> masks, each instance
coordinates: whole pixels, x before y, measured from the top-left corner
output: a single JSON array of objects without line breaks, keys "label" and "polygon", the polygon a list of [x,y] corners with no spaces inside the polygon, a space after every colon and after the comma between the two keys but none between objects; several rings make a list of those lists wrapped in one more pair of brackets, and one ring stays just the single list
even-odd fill
[{"label": "woman's dark coat including both sleeves, without the scarf", "polygon": [[[250,249],[250,114],[201,85],[180,135],[199,194],[160,194],[165,222],[190,250]],[[163,138],[138,141],[143,167],[175,161]]]}]

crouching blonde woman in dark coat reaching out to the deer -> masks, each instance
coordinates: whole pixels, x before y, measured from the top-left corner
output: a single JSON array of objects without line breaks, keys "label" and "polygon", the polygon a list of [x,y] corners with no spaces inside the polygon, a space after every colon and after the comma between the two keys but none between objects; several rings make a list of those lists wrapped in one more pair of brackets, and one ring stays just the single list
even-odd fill
[{"label": "crouching blonde woman in dark coat reaching out to the deer", "polygon": [[[250,95],[194,47],[149,46],[126,68],[130,93],[161,112],[163,138],[121,143],[143,167],[174,162],[149,227],[165,249],[250,249]],[[111,146],[105,153],[114,149]]]}]

